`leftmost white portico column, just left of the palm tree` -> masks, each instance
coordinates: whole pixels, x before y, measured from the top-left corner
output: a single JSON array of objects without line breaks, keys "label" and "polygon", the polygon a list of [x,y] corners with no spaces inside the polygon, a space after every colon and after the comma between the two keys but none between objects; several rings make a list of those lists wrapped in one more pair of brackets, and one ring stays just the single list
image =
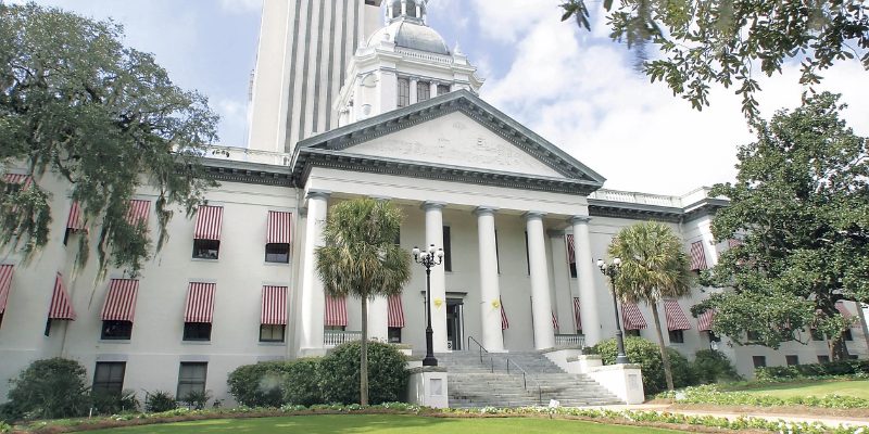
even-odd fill
[{"label": "leftmost white portico column, just left of the palm tree", "polygon": [[323,228],[326,225],[326,209],[329,206],[329,193],[320,191],[307,192],[307,219],[305,221],[305,242],[302,255],[302,299],[299,314],[299,347],[301,353],[316,354],[323,350],[323,309],[326,303],[323,281],[316,272],[314,251],[324,245]]}]

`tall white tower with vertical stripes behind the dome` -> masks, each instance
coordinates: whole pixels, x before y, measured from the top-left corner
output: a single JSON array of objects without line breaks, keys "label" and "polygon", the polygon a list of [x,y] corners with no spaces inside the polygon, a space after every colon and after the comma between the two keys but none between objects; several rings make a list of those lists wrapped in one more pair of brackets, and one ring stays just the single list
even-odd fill
[{"label": "tall white tower with vertical stripes behind the dome", "polygon": [[347,65],[381,24],[381,0],[264,0],[248,148],[291,151],[335,128]]}]

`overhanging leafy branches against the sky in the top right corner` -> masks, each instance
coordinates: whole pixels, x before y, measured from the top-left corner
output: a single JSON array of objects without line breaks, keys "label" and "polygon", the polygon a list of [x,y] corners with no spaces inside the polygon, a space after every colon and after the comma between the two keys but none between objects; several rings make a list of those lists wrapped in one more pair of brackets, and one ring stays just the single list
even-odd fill
[{"label": "overhanging leafy branches against the sky in the top right corner", "polygon": [[[652,42],[660,58],[642,69],[702,110],[710,84],[736,87],[742,110],[757,115],[757,73],[802,64],[815,85],[836,62],[859,58],[869,69],[869,3],[862,0],[604,0],[610,37],[628,47]],[[563,20],[590,29],[585,0],[566,0]],[[755,71],[759,69],[759,71]]]}]

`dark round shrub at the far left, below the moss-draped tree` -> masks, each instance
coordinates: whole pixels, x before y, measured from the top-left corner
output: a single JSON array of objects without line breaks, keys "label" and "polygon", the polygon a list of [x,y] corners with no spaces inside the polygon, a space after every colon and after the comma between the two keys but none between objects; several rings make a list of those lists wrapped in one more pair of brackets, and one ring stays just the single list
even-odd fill
[{"label": "dark round shrub at the far left, below the moss-draped tree", "polygon": [[75,360],[36,360],[10,380],[9,399],[16,411],[27,417],[84,416],[88,409],[85,372],[85,367]]}]

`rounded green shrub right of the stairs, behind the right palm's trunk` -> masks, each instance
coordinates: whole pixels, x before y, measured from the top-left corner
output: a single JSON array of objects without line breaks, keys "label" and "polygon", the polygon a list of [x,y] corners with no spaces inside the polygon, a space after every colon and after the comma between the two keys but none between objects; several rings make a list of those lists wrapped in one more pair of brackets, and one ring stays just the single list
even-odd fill
[{"label": "rounded green shrub right of the stairs, behind the right palm's trunk", "polygon": [[[615,339],[599,342],[597,345],[592,347],[592,350],[601,355],[601,360],[603,360],[604,365],[616,362],[618,349]],[[646,395],[654,395],[667,390],[664,362],[660,360],[660,349],[656,343],[642,337],[627,336],[625,337],[625,353],[631,363],[638,363],[642,367],[643,390]],[[684,387],[695,384],[696,378],[688,359],[672,348],[667,348],[667,355],[670,357],[673,385],[676,387]]]}]

